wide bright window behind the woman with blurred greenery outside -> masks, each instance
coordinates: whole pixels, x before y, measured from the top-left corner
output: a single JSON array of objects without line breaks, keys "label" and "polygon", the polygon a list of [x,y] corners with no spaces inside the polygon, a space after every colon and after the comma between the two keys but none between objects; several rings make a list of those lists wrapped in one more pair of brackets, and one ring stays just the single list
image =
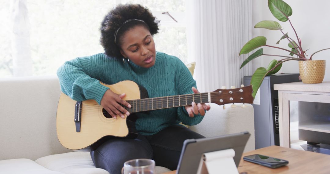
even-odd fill
[{"label": "wide bright window behind the woman with blurred greenery outside", "polygon": [[[118,3],[139,3],[151,10],[161,20],[159,33],[154,36],[156,50],[175,55],[187,62],[187,43],[185,27],[185,0],[18,0],[0,1],[0,20],[4,28],[0,30],[0,77],[11,77],[15,69],[23,68],[30,74],[24,75],[55,75],[56,70],[65,61],[76,57],[104,52],[99,43],[99,27],[105,14]],[[17,5],[17,4],[16,4]],[[17,56],[12,43],[19,38],[13,32],[14,8],[17,11],[26,8],[23,18],[28,19],[27,31],[29,38],[24,48],[30,50],[31,56]],[[175,22],[166,9],[179,22]],[[17,13],[17,11],[15,13]],[[17,26],[17,25],[14,25]],[[18,47],[16,50],[24,50]],[[14,46],[15,47],[15,46]],[[18,51],[19,52],[19,51]],[[22,51],[23,52],[23,51]],[[15,61],[32,65],[19,67]],[[16,63],[17,64],[17,63]],[[15,74],[15,75],[14,75]],[[17,76],[21,76],[18,74]]]}]

